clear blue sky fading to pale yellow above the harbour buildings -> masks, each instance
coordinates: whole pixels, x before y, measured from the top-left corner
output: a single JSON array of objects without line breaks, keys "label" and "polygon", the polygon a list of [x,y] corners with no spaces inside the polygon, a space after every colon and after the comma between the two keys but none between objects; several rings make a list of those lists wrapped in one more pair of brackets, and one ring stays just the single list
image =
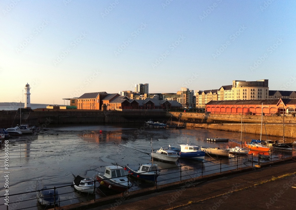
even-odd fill
[{"label": "clear blue sky fading to pale yellow above the harbour buildings", "polygon": [[296,1],[1,0],[0,102],[83,93],[218,89],[269,80],[296,91]]}]

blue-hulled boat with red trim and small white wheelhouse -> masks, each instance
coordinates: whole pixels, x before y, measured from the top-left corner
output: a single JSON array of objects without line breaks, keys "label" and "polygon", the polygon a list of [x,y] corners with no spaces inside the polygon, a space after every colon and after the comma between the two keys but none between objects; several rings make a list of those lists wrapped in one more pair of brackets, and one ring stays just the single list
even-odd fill
[{"label": "blue-hulled boat with red trim and small white wheelhouse", "polygon": [[138,170],[132,169],[128,165],[126,165],[124,169],[128,174],[144,181],[155,182],[156,178],[159,176],[159,173],[157,173],[157,165],[153,163],[141,164]]}]

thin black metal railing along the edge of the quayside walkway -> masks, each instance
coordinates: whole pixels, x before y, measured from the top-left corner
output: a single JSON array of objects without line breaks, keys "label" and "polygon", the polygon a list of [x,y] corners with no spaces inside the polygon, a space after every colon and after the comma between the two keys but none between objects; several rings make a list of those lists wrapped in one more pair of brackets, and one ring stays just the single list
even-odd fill
[{"label": "thin black metal railing along the edge of the quayside walkway", "polygon": [[[154,182],[143,182],[141,180],[131,179],[134,177],[133,175],[128,175],[128,185],[129,182],[132,183],[133,187],[147,188],[154,186],[157,188],[159,185],[167,184],[171,182],[182,182],[184,180],[188,180],[190,178],[203,177],[205,175],[211,175],[214,173],[222,173],[229,170],[235,170],[244,167],[250,167],[254,165],[260,165],[268,162],[273,162],[277,160],[287,159],[287,158],[295,158],[296,150],[292,148],[292,151],[285,150],[272,150],[270,152],[258,152],[256,154],[247,154],[247,155],[234,155],[229,158],[220,158],[212,161],[198,161],[192,164],[180,164],[179,166],[168,167],[164,169],[157,169],[159,172],[159,176],[155,176]],[[142,172],[145,173],[145,172]],[[141,173],[139,173],[141,174]],[[108,180],[108,179],[102,179]],[[62,198],[59,200],[56,205],[52,206],[55,209],[56,206],[65,206],[73,203],[78,203],[81,201],[89,201],[96,200],[100,197],[105,197],[110,194],[118,194],[117,191],[106,188],[101,185],[101,181],[94,180],[94,194],[81,193],[80,191],[76,191],[73,189],[74,184],[47,188],[47,190],[59,189],[62,193],[59,193],[59,197]],[[98,186],[96,186],[98,185]],[[129,193],[131,189],[126,189],[124,193]],[[39,190],[27,191],[16,194],[9,194],[9,198],[5,195],[0,196],[0,199],[5,201],[7,198],[7,203],[9,202],[9,206],[5,205],[5,203],[0,204],[0,209],[9,209],[9,210],[20,210],[20,209],[37,209],[36,202],[36,193]],[[54,194],[55,197],[55,194]],[[62,204],[62,205],[61,205]],[[38,205],[38,202],[37,202]],[[5,207],[6,206],[6,207]]]}]

